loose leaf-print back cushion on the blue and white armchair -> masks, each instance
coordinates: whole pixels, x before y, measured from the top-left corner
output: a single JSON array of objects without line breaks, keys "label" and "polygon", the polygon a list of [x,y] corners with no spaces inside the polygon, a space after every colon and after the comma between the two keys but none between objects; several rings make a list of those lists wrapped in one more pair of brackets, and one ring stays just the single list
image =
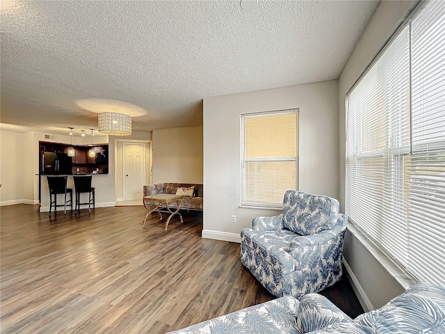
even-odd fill
[{"label": "loose leaf-print back cushion on the blue and white armchair", "polygon": [[330,230],[336,225],[339,201],[301,191],[286,191],[283,200],[283,225],[301,235]]}]

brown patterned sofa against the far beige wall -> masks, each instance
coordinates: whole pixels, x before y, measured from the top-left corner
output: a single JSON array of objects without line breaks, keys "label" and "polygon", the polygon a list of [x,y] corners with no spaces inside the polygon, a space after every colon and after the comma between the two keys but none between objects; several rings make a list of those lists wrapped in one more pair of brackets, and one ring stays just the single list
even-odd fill
[{"label": "brown patterned sofa against the far beige wall", "polygon": [[[202,211],[202,184],[190,183],[157,183],[144,186],[144,196],[156,195],[156,193],[176,193],[179,187],[189,188],[195,186],[193,196],[184,196],[182,198],[181,209]],[[169,207],[177,207],[177,202],[172,202]]]}]

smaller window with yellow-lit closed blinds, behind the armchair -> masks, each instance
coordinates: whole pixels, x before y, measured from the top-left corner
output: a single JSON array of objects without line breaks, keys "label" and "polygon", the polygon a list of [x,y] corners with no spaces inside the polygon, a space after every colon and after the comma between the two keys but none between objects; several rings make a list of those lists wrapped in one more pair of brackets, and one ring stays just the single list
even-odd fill
[{"label": "smaller window with yellow-lit closed blinds, behind the armchair", "polygon": [[241,205],[281,208],[298,189],[298,109],[241,115]]}]

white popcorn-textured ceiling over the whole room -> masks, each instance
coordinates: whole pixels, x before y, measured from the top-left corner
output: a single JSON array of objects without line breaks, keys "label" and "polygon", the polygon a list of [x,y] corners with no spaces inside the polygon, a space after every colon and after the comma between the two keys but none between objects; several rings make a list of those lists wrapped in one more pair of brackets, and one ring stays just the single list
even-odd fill
[{"label": "white popcorn-textured ceiling over the whole room", "polygon": [[[5,1],[0,122],[97,127],[78,100],[202,125],[202,99],[337,79],[378,1]],[[96,100],[94,100],[96,101]]]}]

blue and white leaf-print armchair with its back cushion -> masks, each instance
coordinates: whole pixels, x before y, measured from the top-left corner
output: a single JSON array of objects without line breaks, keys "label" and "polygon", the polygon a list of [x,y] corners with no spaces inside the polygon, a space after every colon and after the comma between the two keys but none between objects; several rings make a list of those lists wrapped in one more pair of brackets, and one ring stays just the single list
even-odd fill
[{"label": "blue and white leaf-print armchair with its back cushion", "polygon": [[300,299],[341,278],[347,221],[334,198],[286,191],[282,214],[241,230],[241,262],[271,294]]}]

